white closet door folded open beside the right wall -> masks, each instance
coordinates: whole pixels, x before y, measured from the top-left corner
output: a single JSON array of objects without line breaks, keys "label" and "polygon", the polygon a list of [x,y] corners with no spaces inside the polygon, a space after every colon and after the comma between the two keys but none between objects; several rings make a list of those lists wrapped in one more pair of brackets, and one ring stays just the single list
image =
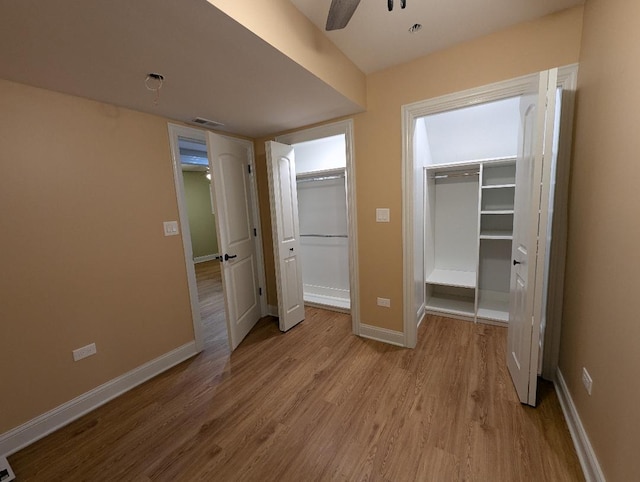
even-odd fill
[{"label": "white closet door folded open beside the right wall", "polygon": [[[520,102],[507,365],[518,398],[529,405],[536,403],[542,319],[542,284],[538,282],[542,280],[536,279],[536,273],[538,260],[544,263],[541,250],[546,246],[544,235],[538,243],[540,229],[546,227],[541,223],[541,212],[548,208],[548,203],[541,202],[544,193],[548,195],[548,186],[543,183],[548,184],[544,173],[549,168],[544,165],[545,133],[549,129],[553,132],[555,114],[552,106],[547,108],[547,99],[554,104],[556,79],[555,69],[541,72]],[[550,144],[547,142],[547,148]],[[542,214],[546,219],[546,213]]]}]

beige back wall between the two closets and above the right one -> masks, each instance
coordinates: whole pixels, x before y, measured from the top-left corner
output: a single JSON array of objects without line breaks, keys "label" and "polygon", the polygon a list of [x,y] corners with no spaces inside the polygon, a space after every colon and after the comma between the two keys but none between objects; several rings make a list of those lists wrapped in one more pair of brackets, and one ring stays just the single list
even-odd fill
[{"label": "beige back wall between the two closets and above the right one", "polygon": [[[355,117],[362,323],[403,329],[402,105],[575,63],[581,28],[582,7],[577,7],[367,77],[367,112]],[[256,142],[256,154],[264,212],[269,198],[263,140]],[[378,207],[391,209],[390,223],[375,222]],[[267,293],[275,305],[271,226],[265,217]],[[390,298],[391,308],[378,307],[376,297]]]}]

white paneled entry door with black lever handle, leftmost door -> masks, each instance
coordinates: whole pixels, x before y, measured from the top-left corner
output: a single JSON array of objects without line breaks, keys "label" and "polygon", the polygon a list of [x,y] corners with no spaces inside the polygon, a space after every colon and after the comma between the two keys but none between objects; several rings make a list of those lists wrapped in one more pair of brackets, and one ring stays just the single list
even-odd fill
[{"label": "white paneled entry door with black lever handle, leftmost door", "polygon": [[235,350],[260,319],[260,287],[251,210],[249,153],[207,133],[221,254],[229,345]]}]

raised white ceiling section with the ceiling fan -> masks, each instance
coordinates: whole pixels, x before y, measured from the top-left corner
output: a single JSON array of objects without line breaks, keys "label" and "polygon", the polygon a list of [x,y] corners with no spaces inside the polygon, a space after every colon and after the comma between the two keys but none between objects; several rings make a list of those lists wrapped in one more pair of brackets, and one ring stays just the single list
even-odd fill
[{"label": "raised white ceiling section with the ceiling fan", "polygon": [[[324,30],[331,0],[291,0]],[[393,11],[384,0],[362,0],[343,30],[326,32],[365,73],[427,55],[508,26],[533,20],[584,0],[407,0]],[[422,30],[409,34],[409,28]]]}]

